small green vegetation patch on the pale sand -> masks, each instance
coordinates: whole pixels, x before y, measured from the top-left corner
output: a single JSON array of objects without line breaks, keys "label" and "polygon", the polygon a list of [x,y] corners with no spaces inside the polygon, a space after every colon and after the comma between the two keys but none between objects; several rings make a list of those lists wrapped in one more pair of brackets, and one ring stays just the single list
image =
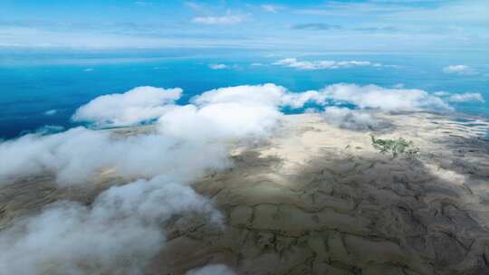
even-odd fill
[{"label": "small green vegetation patch on the pale sand", "polygon": [[419,153],[419,148],[414,146],[411,140],[406,140],[403,137],[398,139],[380,139],[375,136],[372,138],[372,146],[380,151],[382,154],[391,153],[393,157],[399,155],[406,156],[408,158],[414,158]]}]

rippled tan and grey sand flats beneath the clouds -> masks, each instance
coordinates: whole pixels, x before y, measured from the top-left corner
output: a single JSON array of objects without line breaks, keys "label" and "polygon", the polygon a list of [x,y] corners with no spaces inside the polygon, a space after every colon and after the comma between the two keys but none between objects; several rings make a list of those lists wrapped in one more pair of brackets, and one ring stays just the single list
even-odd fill
[{"label": "rippled tan and grey sand flats beneath the clouds", "polygon": [[[414,141],[416,160],[380,154],[372,132],[286,116],[263,144],[235,147],[233,168],[194,185],[215,199],[224,228],[176,217],[148,273],[225,263],[238,274],[489,274],[489,144],[480,138],[489,124],[378,116],[391,127],[373,134]],[[59,199],[90,204],[114,184],[105,176],[90,191],[61,190],[45,176],[6,186],[0,228]]]}]

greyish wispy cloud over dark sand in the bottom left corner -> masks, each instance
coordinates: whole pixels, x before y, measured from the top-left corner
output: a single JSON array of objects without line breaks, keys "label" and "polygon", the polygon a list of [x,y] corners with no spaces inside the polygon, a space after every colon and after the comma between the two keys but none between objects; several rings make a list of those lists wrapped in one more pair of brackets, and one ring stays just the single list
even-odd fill
[{"label": "greyish wispy cloud over dark sand in the bottom left corner", "polygon": [[165,242],[160,224],[175,213],[220,223],[209,200],[165,178],[112,187],[91,206],[62,202],[0,232],[8,274],[144,274]]}]

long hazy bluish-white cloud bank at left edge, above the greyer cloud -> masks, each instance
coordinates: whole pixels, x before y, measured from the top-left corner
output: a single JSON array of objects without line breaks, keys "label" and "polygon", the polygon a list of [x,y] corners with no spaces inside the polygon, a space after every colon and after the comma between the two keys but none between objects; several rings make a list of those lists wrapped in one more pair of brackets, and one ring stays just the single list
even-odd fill
[{"label": "long hazy bluish-white cloud bank at left edge, above the greyer cloud", "polygon": [[[253,121],[259,122],[259,119]],[[213,121],[201,121],[206,122]],[[168,127],[170,125],[173,124]],[[200,126],[216,128],[215,125]],[[168,172],[193,176],[209,166],[226,166],[225,147],[211,144],[205,137],[195,138],[191,128],[185,130],[178,132],[178,137],[169,136],[167,131],[167,136],[153,134],[113,138],[107,131],[86,128],[73,128],[47,136],[26,135],[0,143],[0,182],[6,184],[8,179],[17,175],[48,171],[57,175],[59,185],[83,185],[104,171],[113,171],[115,175],[130,180]],[[196,156],[196,151],[211,154],[214,158],[202,159],[198,157],[202,155]],[[191,171],[187,166],[193,167]]]}]

